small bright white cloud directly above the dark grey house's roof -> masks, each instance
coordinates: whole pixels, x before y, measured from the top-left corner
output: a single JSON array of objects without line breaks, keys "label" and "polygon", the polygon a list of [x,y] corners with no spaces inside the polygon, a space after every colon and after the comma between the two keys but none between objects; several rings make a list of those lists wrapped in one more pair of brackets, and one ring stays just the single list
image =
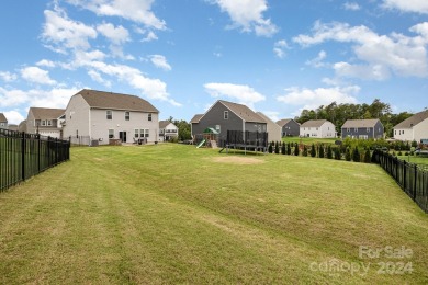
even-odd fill
[{"label": "small bright white cloud directly above the dark grey house's roof", "polygon": [[266,96],[258,93],[248,86],[232,83],[206,83],[205,91],[213,98],[230,98],[237,100],[237,103],[246,104],[254,109],[254,104],[266,100]]}]

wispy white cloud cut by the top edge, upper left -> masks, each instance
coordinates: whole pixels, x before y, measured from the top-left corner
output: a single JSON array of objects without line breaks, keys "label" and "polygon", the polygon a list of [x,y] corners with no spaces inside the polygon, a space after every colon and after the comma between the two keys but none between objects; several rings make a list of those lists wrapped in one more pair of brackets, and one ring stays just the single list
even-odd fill
[{"label": "wispy white cloud cut by the top edge, upper left", "polygon": [[155,0],[68,0],[69,3],[90,10],[98,15],[121,16],[149,29],[166,30],[165,21],[151,11]]}]

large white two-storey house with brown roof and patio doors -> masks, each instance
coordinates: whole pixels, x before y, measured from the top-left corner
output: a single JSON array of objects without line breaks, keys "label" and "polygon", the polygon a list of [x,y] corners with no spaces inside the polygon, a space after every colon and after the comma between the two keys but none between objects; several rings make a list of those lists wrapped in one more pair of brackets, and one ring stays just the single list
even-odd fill
[{"label": "large white two-storey house with brown roof and patio doors", "polygon": [[71,96],[65,114],[65,137],[89,137],[100,145],[158,141],[159,111],[136,95],[83,89]]}]

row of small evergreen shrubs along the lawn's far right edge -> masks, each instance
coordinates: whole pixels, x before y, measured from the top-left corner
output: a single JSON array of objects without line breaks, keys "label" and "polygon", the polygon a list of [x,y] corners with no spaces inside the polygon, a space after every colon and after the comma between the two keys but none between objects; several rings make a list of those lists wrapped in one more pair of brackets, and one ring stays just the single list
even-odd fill
[{"label": "row of small evergreen shrubs along the lawn's far right edge", "polygon": [[317,157],[317,158],[327,158],[327,159],[336,159],[341,160],[345,158],[347,161],[354,162],[371,162],[371,151],[370,148],[364,150],[360,150],[358,146],[351,148],[341,146],[331,146],[328,144],[325,146],[324,144],[319,144],[315,146],[312,144],[307,145],[299,145],[297,142],[279,142],[271,141],[268,147],[269,153],[281,153],[288,156],[303,156],[303,157]]}]

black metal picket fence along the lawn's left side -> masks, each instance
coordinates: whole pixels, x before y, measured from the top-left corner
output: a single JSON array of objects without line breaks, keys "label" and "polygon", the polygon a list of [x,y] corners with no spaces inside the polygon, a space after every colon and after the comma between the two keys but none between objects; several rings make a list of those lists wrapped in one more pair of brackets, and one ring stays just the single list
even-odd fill
[{"label": "black metal picket fence along the lawn's left side", "polygon": [[0,192],[70,158],[70,142],[0,128]]}]

